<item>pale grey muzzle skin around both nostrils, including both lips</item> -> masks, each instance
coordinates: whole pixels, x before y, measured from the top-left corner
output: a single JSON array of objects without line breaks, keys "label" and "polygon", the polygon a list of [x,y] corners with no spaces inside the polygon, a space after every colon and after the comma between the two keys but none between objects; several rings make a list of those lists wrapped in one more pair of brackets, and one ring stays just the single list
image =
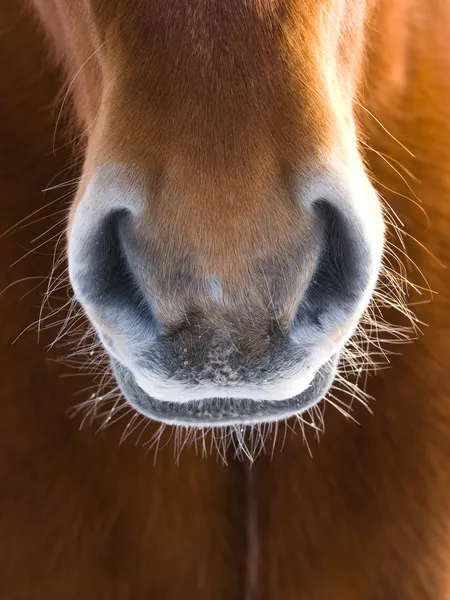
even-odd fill
[{"label": "pale grey muzzle skin around both nostrils, including both lips", "polygon": [[[137,234],[139,183],[117,165],[93,174],[72,223],[69,274],[136,410],[179,425],[255,424],[301,413],[324,397],[370,301],[384,229],[362,165],[351,171],[343,164],[316,168],[299,184],[298,195],[311,217],[308,236],[290,257],[252,264],[272,284],[272,306],[289,292],[280,272],[283,281],[286,269],[292,279],[308,272],[289,330],[277,328],[267,299],[261,301],[267,310],[258,307],[252,315],[244,290],[241,305],[230,302],[216,326],[211,315],[194,312],[167,332],[155,318],[154,295],[181,302],[189,289],[208,296],[211,306],[225,306],[220,279],[199,280],[190,257],[178,261],[178,268],[174,257],[171,278],[158,274],[151,240],[143,244]],[[250,335],[252,318],[257,327]]]}]

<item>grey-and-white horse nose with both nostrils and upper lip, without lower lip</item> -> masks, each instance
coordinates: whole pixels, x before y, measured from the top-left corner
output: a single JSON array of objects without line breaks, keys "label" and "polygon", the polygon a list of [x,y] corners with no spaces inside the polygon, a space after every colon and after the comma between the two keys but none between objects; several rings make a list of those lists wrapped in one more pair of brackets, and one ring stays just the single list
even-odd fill
[{"label": "grey-and-white horse nose with both nostrils and upper lip, without lower lip", "polygon": [[[323,173],[315,184],[311,181],[299,194],[309,219],[298,231],[302,244],[283,246],[278,253],[273,244],[270,260],[265,248],[265,262],[241,256],[247,278],[228,302],[220,278],[199,284],[194,273],[201,265],[195,261],[190,274],[174,280],[175,256],[166,255],[166,278],[154,279],[158,261],[148,260],[150,241],[146,245],[137,236],[145,218],[139,195],[130,194],[129,187],[119,193],[116,183],[108,187],[94,179],[75,210],[69,274],[126,395],[136,395],[137,385],[156,402],[281,402],[298,398],[318,373],[324,376],[324,368],[329,381],[329,361],[353,333],[371,294],[381,244],[361,209],[360,198],[367,199],[370,188],[339,186],[337,178]],[[154,236],[152,247],[158,244],[156,231]],[[183,310],[175,310],[177,303]],[[281,325],[280,315],[288,315]],[[220,328],[226,335],[218,343],[211,331]],[[178,333],[172,335],[173,330]],[[111,331],[120,347],[111,343]],[[234,401],[230,406],[235,414]]]}]

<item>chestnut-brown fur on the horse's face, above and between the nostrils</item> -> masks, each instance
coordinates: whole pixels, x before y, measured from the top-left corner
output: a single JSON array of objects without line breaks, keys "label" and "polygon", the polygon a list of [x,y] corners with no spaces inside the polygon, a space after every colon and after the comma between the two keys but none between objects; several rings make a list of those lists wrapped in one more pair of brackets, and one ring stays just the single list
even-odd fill
[{"label": "chestnut-brown fur on the horse's face, above and between the nostrils", "polygon": [[[35,4],[67,57],[76,113],[87,128],[73,208],[95,167],[132,168],[151,196],[138,232],[146,243],[157,240],[149,269],[167,282],[177,262],[193,257],[200,280],[220,277],[224,291],[245,303],[256,288],[249,257],[281,256],[287,264],[310,226],[293,200],[299,172],[349,153],[351,132],[336,126],[319,65],[338,62],[350,98],[370,6],[349,3],[339,14],[329,2],[329,19],[321,20],[317,0],[55,2],[50,14],[48,2]],[[355,30],[346,31],[345,43],[332,41],[350,19]],[[63,38],[58,21],[71,24],[76,41]],[[344,121],[351,110],[348,99]],[[297,277],[287,269],[287,280]],[[286,293],[286,320],[299,295]],[[185,309],[180,303],[168,314],[174,294],[158,293],[155,284],[152,296],[163,320],[177,321]],[[205,303],[202,292],[195,296]]]}]

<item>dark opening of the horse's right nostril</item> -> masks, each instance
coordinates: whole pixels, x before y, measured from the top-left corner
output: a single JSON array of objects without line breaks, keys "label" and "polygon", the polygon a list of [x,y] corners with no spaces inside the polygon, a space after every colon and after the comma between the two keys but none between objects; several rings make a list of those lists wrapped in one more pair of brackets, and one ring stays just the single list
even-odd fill
[{"label": "dark opening of the horse's right nostril", "polygon": [[370,255],[356,217],[326,200],[316,201],[314,209],[322,224],[322,247],[296,323],[328,329],[360,302],[370,277]]}]

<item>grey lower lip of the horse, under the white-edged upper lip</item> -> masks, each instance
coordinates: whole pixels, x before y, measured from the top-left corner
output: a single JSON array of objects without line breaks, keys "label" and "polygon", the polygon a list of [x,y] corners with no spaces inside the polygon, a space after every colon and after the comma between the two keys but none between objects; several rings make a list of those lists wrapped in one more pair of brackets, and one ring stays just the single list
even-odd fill
[{"label": "grey lower lip of the horse, under the white-edged upper lip", "polygon": [[146,394],[132,372],[111,358],[114,375],[128,403],[138,412],[162,423],[187,427],[255,425],[288,419],[317,404],[330,389],[336,374],[334,356],[316,372],[308,387],[287,400],[208,398],[189,402],[166,402]]}]

